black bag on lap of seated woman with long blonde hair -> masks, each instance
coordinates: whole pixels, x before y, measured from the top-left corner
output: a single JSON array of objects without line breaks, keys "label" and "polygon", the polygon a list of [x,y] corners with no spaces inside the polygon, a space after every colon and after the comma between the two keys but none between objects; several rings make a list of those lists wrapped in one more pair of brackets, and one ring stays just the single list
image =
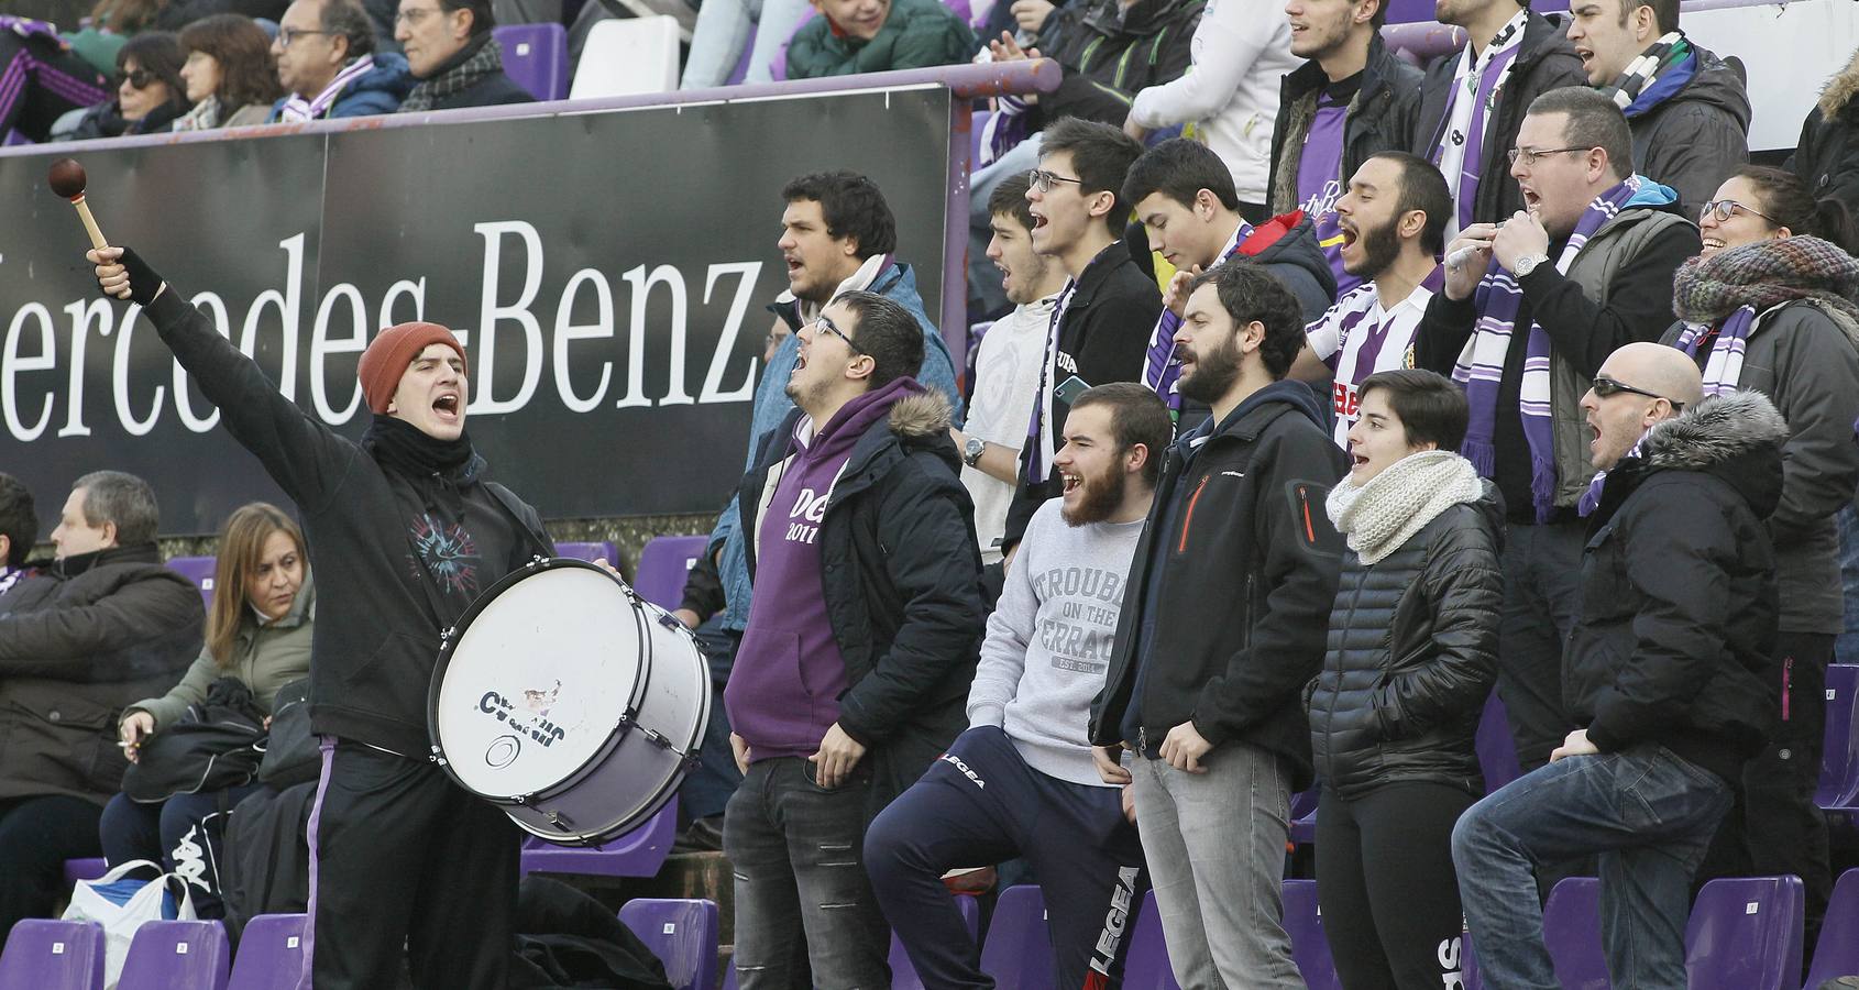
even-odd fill
[{"label": "black bag on lap of seated woman with long blonde hair", "polygon": [[141,743],[123,771],[130,801],[160,804],[175,795],[214,793],[251,784],[264,760],[264,710],[238,678],[219,678],[206,700],[188,706],[175,724]]}]

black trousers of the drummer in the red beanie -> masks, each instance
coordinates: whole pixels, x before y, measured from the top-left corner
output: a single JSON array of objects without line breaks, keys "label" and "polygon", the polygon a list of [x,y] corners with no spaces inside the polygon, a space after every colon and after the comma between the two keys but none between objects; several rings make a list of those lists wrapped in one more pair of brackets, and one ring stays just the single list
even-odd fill
[{"label": "black trousers of the drummer in the red beanie", "polygon": [[325,737],[303,947],[314,988],[396,988],[403,957],[420,988],[502,988],[519,836],[437,765]]}]

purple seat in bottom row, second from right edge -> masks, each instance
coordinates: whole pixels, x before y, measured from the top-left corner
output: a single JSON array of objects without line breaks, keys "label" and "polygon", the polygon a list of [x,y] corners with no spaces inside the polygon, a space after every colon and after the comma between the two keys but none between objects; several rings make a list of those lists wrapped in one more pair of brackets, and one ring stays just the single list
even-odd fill
[{"label": "purple seat in bottom row, second from right edge", "polygon": [[1734,877],[1697,892],[1684,929],[1692,990],[1794,990],[1801,979],[1800,877]]}]

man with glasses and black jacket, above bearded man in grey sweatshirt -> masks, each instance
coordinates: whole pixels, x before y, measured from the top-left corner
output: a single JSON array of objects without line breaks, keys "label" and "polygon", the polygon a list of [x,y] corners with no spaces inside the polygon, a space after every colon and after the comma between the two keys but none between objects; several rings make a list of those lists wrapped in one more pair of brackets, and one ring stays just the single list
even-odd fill
[{"label": "man with glasses and black jacket, above bearded man in grey sweatshirt", "polygon": [[1009,557],[1039,505],[1063,492],[1052,466],[1071,397],[1114,381],[1134,381],[1162,314],[1154,279],[1119,240],[1130,204],[1123,180],[1143,145],[1123,130],[1063,119],[1045,130],[1030,173],[1034,253],[1065,269],[1067,282],[1047,331],[1045,368],[1021,448],[1021,483],[1008,505],[1000,548]]}]

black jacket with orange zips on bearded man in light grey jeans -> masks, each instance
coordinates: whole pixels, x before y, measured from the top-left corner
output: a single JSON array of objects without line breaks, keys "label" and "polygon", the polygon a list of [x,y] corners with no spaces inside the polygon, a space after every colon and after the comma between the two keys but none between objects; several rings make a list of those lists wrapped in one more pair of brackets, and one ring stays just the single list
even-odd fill
[{"label": "black jacket with orange zips on bearded man in light grey jeans", "polygon": [[[1322,416],[1303,383],[1281,381],[1240,403],[1193,462],[1180,451],[1190,438],[1169,446],[1091,702],[1093,745],[1123,743],[1136,706],[1147,739],[1130,743],[1153,752],[1192,721],[1214,745],[1208,760],[1240,739],[1283,758],[1296,789],[1311,786],[1303,687],[1324,665],[1342,563],[1324,500],[1344,459]],[[1145,624],[1153,639],[1138,656]],[[1147,671],[1132,697],[1138,665]]]}]

